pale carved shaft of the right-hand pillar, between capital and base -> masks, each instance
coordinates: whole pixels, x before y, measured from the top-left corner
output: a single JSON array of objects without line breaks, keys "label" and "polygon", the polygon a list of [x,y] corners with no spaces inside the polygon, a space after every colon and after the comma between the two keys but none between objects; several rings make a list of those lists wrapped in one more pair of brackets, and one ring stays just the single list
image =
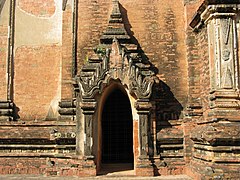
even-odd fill
[{"label": "pale carved shaft of the right-hand pillar, between capital and base", "polygon": [[213,39],[216,76],[212,79],[212,89],[238,89],[238,64],[236,53],[236,27],[230,17],[217,18],[209,23],[214,29]]}]

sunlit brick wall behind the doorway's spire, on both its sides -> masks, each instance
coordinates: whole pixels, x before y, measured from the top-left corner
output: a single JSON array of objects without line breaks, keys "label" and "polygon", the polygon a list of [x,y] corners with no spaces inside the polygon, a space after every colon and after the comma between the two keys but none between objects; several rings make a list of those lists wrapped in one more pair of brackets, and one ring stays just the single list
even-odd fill
[{"label": "sunlit brick wall behind the doorway's spire, on both its sides", "polygon": [[[171,88],[176,99],[184,106],[188,88],[183,2],[120,0],[120,4],[127,31],[159,69],[159,78]],[[99,44],[109,13],[111,0],[79,3],[79,66],[92,52],[91,49]]]}]

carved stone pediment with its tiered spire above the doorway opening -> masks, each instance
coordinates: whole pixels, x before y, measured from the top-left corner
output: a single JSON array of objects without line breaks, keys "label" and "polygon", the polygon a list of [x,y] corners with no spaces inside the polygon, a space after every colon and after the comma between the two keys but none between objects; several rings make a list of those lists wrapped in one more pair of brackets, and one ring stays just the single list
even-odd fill
[{"label": "carved stone pediment with its tiered spire above the doorway opening", "polygon": [[76,77],[84,98],[93,98],[96,93],[101,93],[104,84],[108,84],[111,79],[121,81],[139,99],[151,96],[157,77],[143,51],[131,42],[118,1],[113,1],[109,26],[94,52]]}]

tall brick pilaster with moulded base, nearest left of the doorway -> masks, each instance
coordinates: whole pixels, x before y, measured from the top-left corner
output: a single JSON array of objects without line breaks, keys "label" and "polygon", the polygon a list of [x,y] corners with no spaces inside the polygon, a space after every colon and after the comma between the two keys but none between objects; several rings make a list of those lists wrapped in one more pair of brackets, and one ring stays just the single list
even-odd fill
[{"label": "tall brick pilaster with moulded base, nearest left of the doorway", "polygon": [[63,0],[62,5],[62,84],[59,120],[75,121],[76,97],[72,87],[72,78],[76,75],[78,1]]}]

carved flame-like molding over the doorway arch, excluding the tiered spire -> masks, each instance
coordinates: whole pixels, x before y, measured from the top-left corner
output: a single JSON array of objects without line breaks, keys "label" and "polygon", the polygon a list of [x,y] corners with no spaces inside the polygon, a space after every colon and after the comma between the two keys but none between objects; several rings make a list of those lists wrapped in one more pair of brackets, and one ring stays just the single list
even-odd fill
[{"label": "carved flame-like molding over the doorway arch, excluding the tiered spire", "polygon": [[[121,52],[115,54],[118,49]],[[139,52],[128,51],[115,38],[110,48],[104,50],[104,55],[96,53],[88,59],[75,80],[85,99],[94,98],[97,93],[101,94],[111,80],[120,81],[138,99],[149,99],[152,86],[157,80],[151,68],[149,62],[143,62]]]}]

